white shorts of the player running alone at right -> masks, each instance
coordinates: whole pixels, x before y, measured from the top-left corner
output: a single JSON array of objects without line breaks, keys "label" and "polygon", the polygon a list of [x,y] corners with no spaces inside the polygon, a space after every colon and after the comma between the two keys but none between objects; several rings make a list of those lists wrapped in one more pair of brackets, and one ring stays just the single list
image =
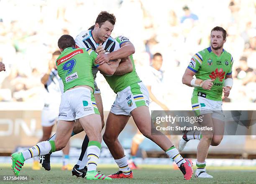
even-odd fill
[{"label": "white shorts of the player running alone at right", "polygon": [[224,120],[222,101],[215,101],[205,97],[192,95],[191,102],[192,109],[197,116],[211,113],[212,118]]}]

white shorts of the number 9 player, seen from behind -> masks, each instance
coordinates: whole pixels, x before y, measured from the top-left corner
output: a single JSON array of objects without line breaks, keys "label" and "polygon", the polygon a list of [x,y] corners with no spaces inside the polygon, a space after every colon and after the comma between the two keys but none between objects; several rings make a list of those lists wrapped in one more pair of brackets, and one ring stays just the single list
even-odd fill
[{"label": "white shorts of the number 9 player, seen from behind", "polygon": [[73,121],[90,114],[100,114],[92,92],[77,87],[61,94],[59,120]]}]

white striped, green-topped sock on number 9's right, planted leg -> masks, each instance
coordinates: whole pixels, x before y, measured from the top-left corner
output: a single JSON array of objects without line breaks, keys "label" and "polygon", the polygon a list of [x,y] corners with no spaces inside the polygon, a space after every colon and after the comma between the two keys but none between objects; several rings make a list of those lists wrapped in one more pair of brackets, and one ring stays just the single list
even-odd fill
[{"label": "white striped, green-topped sock on number 9's right, planted leg", "polygon": [[97,162],[100,157],[101,144],[98,141],[90,141],[87,147],[87,171],[96,171]]}]

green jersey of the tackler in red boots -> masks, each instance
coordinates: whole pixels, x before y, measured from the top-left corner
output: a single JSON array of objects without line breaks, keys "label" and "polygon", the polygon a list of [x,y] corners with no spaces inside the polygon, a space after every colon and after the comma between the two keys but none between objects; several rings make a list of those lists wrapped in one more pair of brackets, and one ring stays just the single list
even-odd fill
[{"label": "green jersey of the tackler in red boots", "polygon": [[[115,40],[118,41],[120,47],[124,42],[130,42],[128,38],[123,37],[123,36],[118,36],[115,38]],[[133,64],[132,72],[124,74],[124,75],[104,76],[105,79],[107,80],[108,84],[110,85],[111,89],[115,93],[124,90],[126,87],[128,87],[134,83],[141,82],[141,80],[138,77],[136,70],[135,70],[133,55],[130,55],[129,57],[131,58],[131,61]]]}]

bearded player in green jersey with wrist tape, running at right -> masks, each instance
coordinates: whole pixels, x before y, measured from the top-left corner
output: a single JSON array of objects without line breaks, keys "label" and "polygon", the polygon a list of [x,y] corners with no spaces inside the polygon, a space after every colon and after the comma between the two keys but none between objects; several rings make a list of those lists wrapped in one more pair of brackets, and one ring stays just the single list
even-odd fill
[{"label": "bearded player in green jersey with wrist tape, running at right", "polygon": [[206,173],[205,159],[210,145],[218,146],[223,139],[222,93],[228,97],[233,85],[233,57],[223,49],[226,36],[227,32],[222,27],[214,27],[210,36],[211,46],[192,57],[182,77],[183,84],[195,87],[191,103],[196,116],[202,116],[203,126],[214,128],[213,131],[185,132],[179,142],[179,151],[182,151],[189,140],[200,140],[195,172],[195,177],[199,178],[212,178]]}]

